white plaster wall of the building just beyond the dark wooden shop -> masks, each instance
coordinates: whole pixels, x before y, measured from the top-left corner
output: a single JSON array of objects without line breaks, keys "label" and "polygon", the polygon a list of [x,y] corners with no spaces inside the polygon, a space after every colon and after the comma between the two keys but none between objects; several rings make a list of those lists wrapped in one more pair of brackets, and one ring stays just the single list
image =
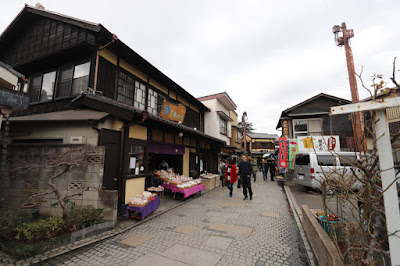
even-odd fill
[{"label": "white plaster wall of the building just beyond the dark wooden shop", "polygon": [[204,133],[218,138],[220,140],[226,141],[226,143],[229,145],[230,143],[230,136],[232,134],[231,132],[231,122],[228,121],[227,127],[228,127],[228,137],[225,135],[222,135],[219,133],[219,115],[217,114],[217,111],[224,111],[226,114],[229,115],[228,109],[222,105],[217,99],[212,99],[208,101],[202,101],[202,103],[207,106],[211,112],[206,112],[204,115]]}]

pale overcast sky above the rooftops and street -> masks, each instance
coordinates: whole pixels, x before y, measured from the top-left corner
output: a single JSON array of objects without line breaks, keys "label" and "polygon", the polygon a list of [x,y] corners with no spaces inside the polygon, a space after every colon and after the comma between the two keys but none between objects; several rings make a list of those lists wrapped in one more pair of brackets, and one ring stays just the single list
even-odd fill
[{"label": "pale overcast sky above the rooftops and street", "polygon": [[[0,31],[27,2],[2,3]],[[226,91],[256,132],[318,93],[350,99],[332,26],[354,29],[356,71],[389,81],[400,55],[400,1],[41,0],[48,10],[101,23],[195,97]],[[400,60],[398,65],[400,66]],[[391,84],[390,84],[391,85]],[[360,98],[369,94],[359,86]]]}]

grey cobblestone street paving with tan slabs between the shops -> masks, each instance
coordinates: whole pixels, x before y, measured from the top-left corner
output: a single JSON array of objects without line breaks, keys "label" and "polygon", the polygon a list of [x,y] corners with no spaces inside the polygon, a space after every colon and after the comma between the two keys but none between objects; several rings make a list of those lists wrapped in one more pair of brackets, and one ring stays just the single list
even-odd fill
[{"label": "grey cobblestone street paving with tan slabs between the shops", "polygon": [[286,195],[276,182],[217,188],[108,240],[40,265],[308,265]]}]

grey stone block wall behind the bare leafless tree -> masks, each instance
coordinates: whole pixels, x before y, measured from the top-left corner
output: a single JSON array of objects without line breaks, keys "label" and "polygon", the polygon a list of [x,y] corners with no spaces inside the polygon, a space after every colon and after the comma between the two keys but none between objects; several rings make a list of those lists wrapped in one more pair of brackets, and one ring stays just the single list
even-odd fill
[{"label": "grey stone block wall behind the bare leafless tree", "polygon": [[[63,154],[74,145],[11,145],[9,146],[9,169],[13,169],[13,160],[24,160],[29,164],[38,162],[45,155]],[[103,208],[105,220],[117,218],[117,191],[102,190],[104,155],[102,146],[81,146],[85,148],[85,154],[74,151],[72,156],[82,158],[83,164],[72,168],[71,171],[58,177],[54,183],[62,195],[74,195],[83,192],[81,196],[70,198],[70,204],[77,206],[93,205]],[[19,207],[28,201],[29,194],[51,192],[48,185],[48,177],[55,170],[40,168],[29,171],[26,174],[9,174],[6,180],[5,206]],[[62,215],[61,207],[54,193],[40,197],[38,202],[39,213],[50,215]]]}]

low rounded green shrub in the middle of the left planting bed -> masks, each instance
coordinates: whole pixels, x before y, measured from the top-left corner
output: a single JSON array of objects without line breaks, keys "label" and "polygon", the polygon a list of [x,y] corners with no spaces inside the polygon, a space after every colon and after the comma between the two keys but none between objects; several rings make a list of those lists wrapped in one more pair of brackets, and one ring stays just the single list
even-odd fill
[{"label": "low rounded green shrub in the middle of the left planting bed", "polygon": [[17,228],[16,239],[32,243],[54,237],[64,229],[61,217],[49,217],[32,223],[25,223]]}]

